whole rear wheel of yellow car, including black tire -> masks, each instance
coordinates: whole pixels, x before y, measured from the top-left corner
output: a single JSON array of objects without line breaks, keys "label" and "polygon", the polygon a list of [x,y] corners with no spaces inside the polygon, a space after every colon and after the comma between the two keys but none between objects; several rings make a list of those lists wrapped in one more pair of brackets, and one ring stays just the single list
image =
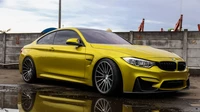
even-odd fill
[{"label": "whole rear wheel of yellow car, including black tire", "polygon": [[22,63],[22,78],[27,83],[36,81],[36,69],[33,60],[26,57]]}]

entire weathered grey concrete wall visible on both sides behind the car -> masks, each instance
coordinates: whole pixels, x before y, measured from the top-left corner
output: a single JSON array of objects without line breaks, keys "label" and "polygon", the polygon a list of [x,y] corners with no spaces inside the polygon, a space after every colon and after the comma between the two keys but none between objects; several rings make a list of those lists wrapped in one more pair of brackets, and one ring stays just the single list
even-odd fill
[{"label": "entire weathered grey concrete wall visible on both sides behind the car", "polygon": [[[116,32],[127,41],[138,45],[174,52],[184,58],[190,68],[200,69],[200,32]],[[41,34],[6,34],[5,64],[18,63],[20,49],[38,38]],[[3,37],[0,34],[0,63],[3,63]]]}]

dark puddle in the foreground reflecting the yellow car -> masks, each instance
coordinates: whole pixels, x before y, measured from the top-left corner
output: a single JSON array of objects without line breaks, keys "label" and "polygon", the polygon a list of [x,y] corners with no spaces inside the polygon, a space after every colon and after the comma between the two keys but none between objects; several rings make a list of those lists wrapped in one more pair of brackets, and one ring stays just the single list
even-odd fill
[{"label": "dark puddle in the foreground reflecting the yellow car", "polygon": [[197,101],[106,97],[65,87],[0,86],[0,112],[200,112],[199,104],[192,102]]}]

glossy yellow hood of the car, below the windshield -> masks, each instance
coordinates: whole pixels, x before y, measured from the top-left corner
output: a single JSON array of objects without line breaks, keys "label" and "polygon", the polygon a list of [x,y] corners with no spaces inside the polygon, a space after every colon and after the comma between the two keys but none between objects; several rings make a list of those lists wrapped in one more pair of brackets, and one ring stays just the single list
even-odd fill
[{"label": "glossy yellow hood of the car, below the windshield", "polygon": [[144,45],[91,44],[91,46],[96,49],[117,51],[133,57],[140,58],[179,58],[179,56],[174,53]]}]

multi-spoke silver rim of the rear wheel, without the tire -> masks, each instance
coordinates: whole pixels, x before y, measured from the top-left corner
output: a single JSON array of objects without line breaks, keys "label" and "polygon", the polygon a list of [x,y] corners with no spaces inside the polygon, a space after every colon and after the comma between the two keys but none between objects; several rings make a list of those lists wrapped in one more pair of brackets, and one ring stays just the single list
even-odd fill
[{"label": "multi-spoke silver rim of the rear wheel, without the tire", "polygon": [[30,59],[26,59],[22,65],[22,76],[25,81],[30,81],[33,75],[33,63]]}]

